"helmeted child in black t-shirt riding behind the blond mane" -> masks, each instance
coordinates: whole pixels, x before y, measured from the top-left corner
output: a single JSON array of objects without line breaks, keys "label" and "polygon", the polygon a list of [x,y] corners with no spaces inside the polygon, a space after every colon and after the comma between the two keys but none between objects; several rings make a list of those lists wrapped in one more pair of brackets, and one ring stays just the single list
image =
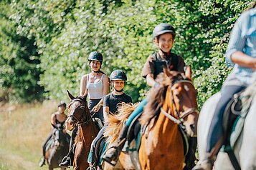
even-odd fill
[{"label": "helmeted child in black t-shirt riding behind the blond mane", "polygon": [[[126,104],[132,103],[131,96],[128,96],[123,92],[125,81],[127,81],[127,77],[125,72],[122,70],[115,70],[110,74],[110,82],[113,87],[113,91],[104,97],[103,115],[105,121],[108,120],[108,114],[117,114],[118,104],[123,102]],[[91,168],[94,167],[96,169],[97,167],[98,160],[95,160],[95,146],[97,142],[104,137],[103,133],[106,126],[108,126],[108,124],[103,126],[103,129],[99,131],[98,136],[96,136],[91,144],[90,154],[88,156],[88,163]]]}]

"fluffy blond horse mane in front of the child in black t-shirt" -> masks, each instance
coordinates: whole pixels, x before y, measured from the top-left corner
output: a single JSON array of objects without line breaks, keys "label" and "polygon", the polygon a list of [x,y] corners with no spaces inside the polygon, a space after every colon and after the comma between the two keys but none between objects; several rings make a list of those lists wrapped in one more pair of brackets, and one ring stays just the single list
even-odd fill
[{"label": "fluffy blond horse mane in front of the child in black t-shirt", "polygon": [[123,102],[118,106],[118,114],[108,115],[108,121],[105,122],[108,126],[104,131],[108,144],[114,144],[117,141],[123,124],[137,106],[138,104],[125,104]]}]

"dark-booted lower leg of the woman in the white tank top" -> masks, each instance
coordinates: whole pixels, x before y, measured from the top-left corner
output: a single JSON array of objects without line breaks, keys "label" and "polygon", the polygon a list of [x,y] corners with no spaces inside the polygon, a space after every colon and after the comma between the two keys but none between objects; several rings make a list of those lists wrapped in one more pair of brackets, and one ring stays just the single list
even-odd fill
[{"label": "dark-booted lower leg of the woman in the white tank top", "polygon": [[68,152],[66,159],[63,159],[62,162],[59,164],[59,166],[62,167],[68,167],[72,166],[72,163],[74,161],[74,156],[75,156],[75,136],[77,136],[77,130],[78,128],[75,127],[74,130],[72,131],[71,139],[70,139],[70,151]]}]

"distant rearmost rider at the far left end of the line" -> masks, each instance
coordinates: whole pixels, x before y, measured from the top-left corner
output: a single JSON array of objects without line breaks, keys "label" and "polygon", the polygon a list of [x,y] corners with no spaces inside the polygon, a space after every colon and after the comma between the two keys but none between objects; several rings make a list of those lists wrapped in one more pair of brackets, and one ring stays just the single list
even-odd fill
[{"label": "distant rearmost rider at the far left end of the line", "polygon": [[[62,127],[65,124],[65,121],[67,119],[67,115],[65,114],[65,110],[66,110],[65,102],[64,101],[60,101],[60,104],[58,105],[58,111],[55,112],[54,114],[52,114],[52,116],[51,116],[52,130],[54,129],[54,126],[57,126],[57,124],[60,124],[60,126],[62,126]],[[63,131],[65,132],[65,129],[63,129]],[[49,136],[47,137],[46,141],[44,142],[44,144],[42,146],[42,154],[43,154],[43,156],[42,156],[41,161],[39,162],[39,166],[40,167],[42,167],[45,164],[46,146],[47,146],[47,142],[51,138],[52,138],[52,133],[49,134]]]}]

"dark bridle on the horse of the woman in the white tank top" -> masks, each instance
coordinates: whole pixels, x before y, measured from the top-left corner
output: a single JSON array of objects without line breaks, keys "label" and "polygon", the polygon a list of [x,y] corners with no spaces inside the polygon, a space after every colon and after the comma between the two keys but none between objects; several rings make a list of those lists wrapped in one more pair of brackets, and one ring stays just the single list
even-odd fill
[{"label": "dark bridle on the horse of the woman in the white tank top", "polygon": [[82,124],[88,124],[92,119],[93,116],[90,116],[90,118],[88,119],[88,116],[86,116],[86,109],[87,109],[87,104],[85,103],[85,101],[82,101],[82,99],[76,98],[76,99],[72,99],[71,102],[73,101],[79,101],[82,105],[80,105],[80,109],[82,110],[82,115],[80,116],[80,118],[77,118],[75,115],[70,114],[67,116],[67,118],[70,119],[75,119],[76,123],[75,126],[81,126]]}]

